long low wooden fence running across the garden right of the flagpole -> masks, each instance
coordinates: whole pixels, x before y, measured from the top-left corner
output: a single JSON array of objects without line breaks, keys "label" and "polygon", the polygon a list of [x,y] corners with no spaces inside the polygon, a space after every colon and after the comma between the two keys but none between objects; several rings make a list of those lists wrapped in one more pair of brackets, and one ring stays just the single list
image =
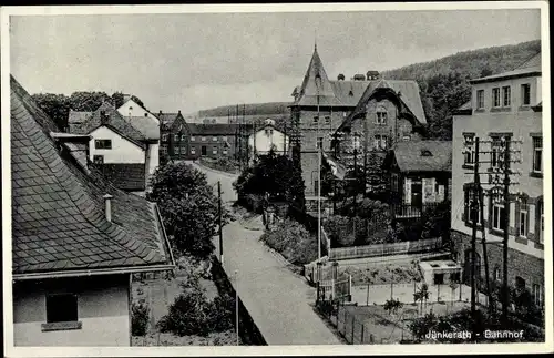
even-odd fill
[{"label": "long low wooden fence running across the garden right of the flagpole", "polygon": [[431,252],[443,247],[442,237],[413,242],[339,247],[329,250],[329,259],[349,259]]}]

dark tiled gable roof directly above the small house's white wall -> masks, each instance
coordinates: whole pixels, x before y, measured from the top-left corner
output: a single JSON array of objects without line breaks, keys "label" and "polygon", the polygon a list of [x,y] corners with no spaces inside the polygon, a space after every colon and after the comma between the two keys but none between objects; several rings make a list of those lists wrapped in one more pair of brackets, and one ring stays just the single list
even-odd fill
[{"label": "dark tiled gable roof directly above the small house's white wall", "polygon": [[[107,119],[105,124],[101,121],[102,112],[105,113]],[[88,116],[86,121],[81,126],[75,129],[75,132],[73,132],[71,127],[70,131],[76,134],[89,134],[102,125],[115,130],[115,132],[123,135],[127,140],[131,140],[142,149],[146,147],[146,145],[142,143],[146,140],[146,137],[137,129],[131,125],[109,102],[104,102],[96,111]]]}]

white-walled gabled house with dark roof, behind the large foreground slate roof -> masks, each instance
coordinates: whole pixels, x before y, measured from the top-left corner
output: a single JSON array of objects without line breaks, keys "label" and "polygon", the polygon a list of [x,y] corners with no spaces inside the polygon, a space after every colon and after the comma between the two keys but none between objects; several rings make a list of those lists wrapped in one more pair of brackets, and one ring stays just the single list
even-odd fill
[{"label": "white-walled gabled house with dark roof, behind the large foreground slate roof", "polygon": [[70,133],[89,134],[88,161],[122,190],[142,193],[160,163],[160,127],[151,117],[124,117],[104,102],[89,114],[72,112]]}]

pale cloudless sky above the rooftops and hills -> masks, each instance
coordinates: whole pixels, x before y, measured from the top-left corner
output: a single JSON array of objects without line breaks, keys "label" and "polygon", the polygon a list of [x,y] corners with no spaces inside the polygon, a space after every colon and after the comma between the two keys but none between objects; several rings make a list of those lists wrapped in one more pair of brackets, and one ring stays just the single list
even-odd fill
[{"label": "pale cloudless sky above the rooftops and hills", "polygon": [[115,91],[153,112],[290,101],[317,41],[330,79],[541,38],[540,10],[12,16],[30,92]]}]

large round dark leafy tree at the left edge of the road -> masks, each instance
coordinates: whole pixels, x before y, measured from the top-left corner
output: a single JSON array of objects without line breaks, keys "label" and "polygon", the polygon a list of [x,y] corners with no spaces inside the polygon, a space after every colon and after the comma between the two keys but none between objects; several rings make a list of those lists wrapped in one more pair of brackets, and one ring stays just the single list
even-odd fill
[{"label": "large round dark leafy tree at the left edge of the road", "polygon": [[[186,163],[167,163],[156,168],[151,182],[150,201],[156,202],[174,247],[205,259],[215,249],[218,200],[206,175]],[[224,224],[228,212],[223,212]]]}]

